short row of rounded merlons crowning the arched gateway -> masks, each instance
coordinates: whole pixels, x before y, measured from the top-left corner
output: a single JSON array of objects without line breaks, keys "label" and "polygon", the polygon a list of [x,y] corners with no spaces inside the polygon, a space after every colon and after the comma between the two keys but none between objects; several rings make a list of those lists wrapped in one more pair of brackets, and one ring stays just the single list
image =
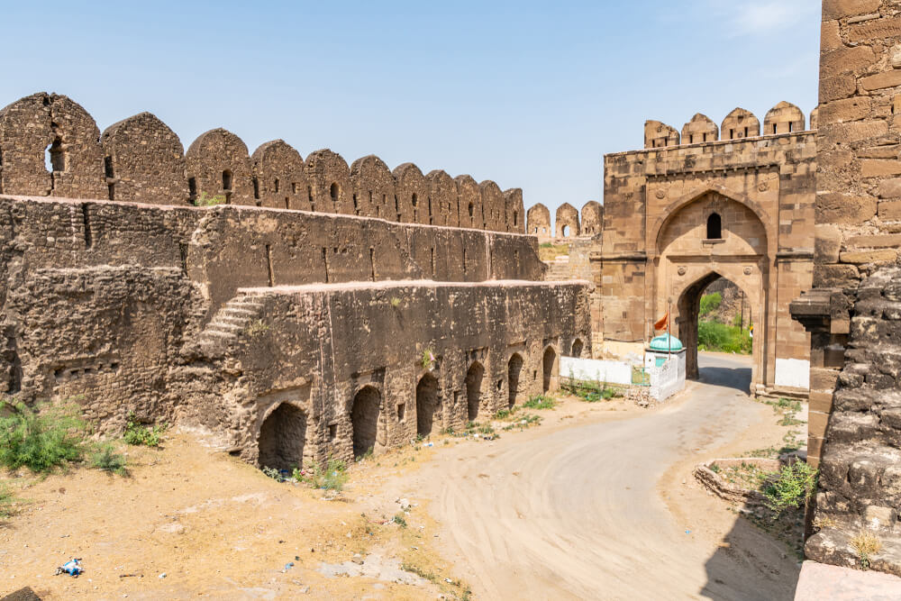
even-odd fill
[{"label": "short row of rounded merlons crowning the arched gateway", "polygon": [[[816,109],[810,114],[810,129],[816,129]],[[805,115],[796,105],[785,101],[769,109],[763,119],[763,131],[760,131],[760,120],[751,111],[735,108],[727,114],[722,125],[716,123],[705,114],[696,113],[691,120],[682,126],[681,135],[676,128],[649,120],[644,122],[644,148],[665,148],[668,146],[686,146],[689,144],[705,144],[719,141],[757,138],[761,136],[780,135],[783,133],[805,131]]]}]

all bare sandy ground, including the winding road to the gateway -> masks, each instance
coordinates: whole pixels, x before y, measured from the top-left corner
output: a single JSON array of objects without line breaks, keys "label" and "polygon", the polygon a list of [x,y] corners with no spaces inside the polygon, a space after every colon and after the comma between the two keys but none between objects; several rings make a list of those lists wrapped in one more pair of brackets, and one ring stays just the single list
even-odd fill
[{"label": "all bare sandy ground, including the winding road to the gateway", "polygon": [[[356,464],[332,500],[192,432],[128,448],[131,478],[3,475],[23,504],[0,524],[0,595],[791,598],[796,559],[690,478],[784,432],[730,387],[750,369],[705,361],[710,381],[662,408],[569,398],[496,441],[436,437]],[[85,574],[54,577],[73,557]],[[363,575],[335,578],[342,562]]]}]

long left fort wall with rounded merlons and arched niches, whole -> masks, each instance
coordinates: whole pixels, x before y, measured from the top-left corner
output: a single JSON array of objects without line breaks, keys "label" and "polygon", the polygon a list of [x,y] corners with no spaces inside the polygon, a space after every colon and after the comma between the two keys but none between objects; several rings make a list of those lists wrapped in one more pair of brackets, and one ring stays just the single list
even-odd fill
[{"label": "long left fort wall with rounded merlons and arched niches, whole", "polygon": [[553,389],[591,336],[518,189],[222,129],[183,153],[151,114],[100,135],[49,94],[0,111],[0,156],[0,391],[80,399],[102,432],[133,413],[270,467],[350,459]]}]

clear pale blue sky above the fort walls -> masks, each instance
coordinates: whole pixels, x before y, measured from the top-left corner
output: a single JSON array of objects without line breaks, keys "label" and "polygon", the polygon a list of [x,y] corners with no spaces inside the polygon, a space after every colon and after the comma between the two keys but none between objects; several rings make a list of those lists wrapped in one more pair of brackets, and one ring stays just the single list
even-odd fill
[{"label": "clear pale blue sky above the fort walls", "polygon": [[9,3],[0,105],[71,96],[100,130],[141,111],[187,146],[369,153],[390,168],[601,200],[602,157],[741,105],[816,104],[819,0]]}]

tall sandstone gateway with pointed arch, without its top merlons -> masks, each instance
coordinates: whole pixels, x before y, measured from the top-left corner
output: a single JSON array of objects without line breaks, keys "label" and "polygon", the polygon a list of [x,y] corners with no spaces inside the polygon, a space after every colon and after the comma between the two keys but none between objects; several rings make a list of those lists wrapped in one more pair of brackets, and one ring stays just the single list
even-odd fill
[{"label": "tall sandstone gateway with pointed arch, without its top merlons", "polygon": [[751,309],[751,392],[804,394],[809,339],[788,304],[813,278],[814,132],[751,133],[605,156],[593,330],[606,353],[641,355],[669,310],[697,377],[700,298],[726,278]]}]

